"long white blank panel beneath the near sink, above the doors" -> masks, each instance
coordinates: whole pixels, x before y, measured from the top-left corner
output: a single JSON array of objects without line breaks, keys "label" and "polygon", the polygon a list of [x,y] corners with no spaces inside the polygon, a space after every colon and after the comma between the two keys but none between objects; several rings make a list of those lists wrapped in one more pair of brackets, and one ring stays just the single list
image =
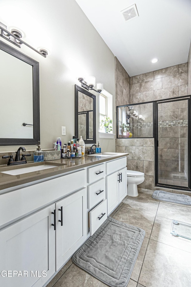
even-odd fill
[{"label": "long white blank panel beneath the near sink, above the doors", "polygon": [[86,170],[80,170],[0,196],[0,226],[83,188]]}]

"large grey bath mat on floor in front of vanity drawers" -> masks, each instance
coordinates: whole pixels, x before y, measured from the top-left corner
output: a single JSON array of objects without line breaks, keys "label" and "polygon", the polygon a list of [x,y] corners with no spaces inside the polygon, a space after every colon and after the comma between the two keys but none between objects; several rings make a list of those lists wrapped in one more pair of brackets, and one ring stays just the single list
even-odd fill
[{"label": "large grey bath mat on floor in front of vanity drawers", "polygon": [[75,252],[78,267],[111,287],[126,287],[145,231],[111,217]]}]

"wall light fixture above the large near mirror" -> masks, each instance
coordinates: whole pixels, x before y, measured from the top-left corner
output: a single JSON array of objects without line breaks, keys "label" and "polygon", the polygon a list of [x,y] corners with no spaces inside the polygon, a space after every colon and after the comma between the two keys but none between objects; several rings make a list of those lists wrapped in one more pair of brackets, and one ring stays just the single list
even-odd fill
[{"label": "wall light fixture above the large near mirror", "polygon": [[26,45],[27,47],[31,48],[36,53],[40,54],[44,58],[48,55],[48,52],[45,49],[40,49],[39,51],[21,40],[22,33],[19,30],[12,29],[11,32],[7,30],[7,26],[0,22],[0,36],[4,39],[8,40],[9,42],[13,43],[17,47],[21,48],[21,44]]}]

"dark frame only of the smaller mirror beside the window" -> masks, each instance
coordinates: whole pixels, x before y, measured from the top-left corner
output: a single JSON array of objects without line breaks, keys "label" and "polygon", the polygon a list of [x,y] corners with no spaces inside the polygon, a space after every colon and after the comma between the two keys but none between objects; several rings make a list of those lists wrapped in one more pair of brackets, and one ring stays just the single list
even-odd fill
[{"label": "dark frame only of the smaller mirror beside the window", "polygon": [[96,144],[96,96],[77,85],[75,85],[75,135],[77,138],[80,136],[78,135],[78,91],[93,98],[93,140],[84,140],[84,143]]}]

